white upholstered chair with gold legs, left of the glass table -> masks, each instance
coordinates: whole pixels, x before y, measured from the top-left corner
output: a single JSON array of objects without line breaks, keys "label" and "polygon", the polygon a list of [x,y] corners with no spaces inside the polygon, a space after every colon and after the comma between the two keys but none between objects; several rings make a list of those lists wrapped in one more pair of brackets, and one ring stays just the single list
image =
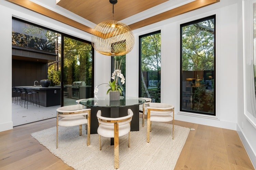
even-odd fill
[{"label": "white upholstered chair with gold legs, left of the glass table", "polygon": [[[81,104],[63,106],[57,108],[57,135],[56,148],[58,148],[58,126],[79,125],[79,135],[82,135],[82,124],[87,124],[87,146],[90,145],[90,114],[91,109],[83,109]],[[60,120],[58,117],[62,117]],[[86,118],[87,117],[87,118]]]}]

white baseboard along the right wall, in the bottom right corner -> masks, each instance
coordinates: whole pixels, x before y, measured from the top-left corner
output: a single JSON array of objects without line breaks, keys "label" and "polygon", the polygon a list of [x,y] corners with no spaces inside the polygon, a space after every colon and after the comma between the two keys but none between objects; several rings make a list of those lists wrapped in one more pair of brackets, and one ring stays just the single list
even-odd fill
[{"label": "white baseboard along the right wall, in the bottom right corner", "polygon": [[248,154],[248,156],[250,157],[252,164],[254,166],[254,168],[256,168],[256,153],[253,152],[252,147],[250,146],[250,144],[247,142],[246,137],[244,136],[243,132],[241,131],[241,128],[239,127],[239,125],[237,124],[237,133],[244,145],[244,148]]}]

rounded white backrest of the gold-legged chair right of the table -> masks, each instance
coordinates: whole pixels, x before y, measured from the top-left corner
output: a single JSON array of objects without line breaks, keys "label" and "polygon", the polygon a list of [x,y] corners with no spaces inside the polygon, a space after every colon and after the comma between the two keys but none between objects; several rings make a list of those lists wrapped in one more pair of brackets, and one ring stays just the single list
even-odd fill
[{"label": "rounded white backrest of the gold-legged chair right of the table", "polygon": [[152,113],[172,113],[174,106],[167,103],[150,103],[147,109],[152,109]]}]

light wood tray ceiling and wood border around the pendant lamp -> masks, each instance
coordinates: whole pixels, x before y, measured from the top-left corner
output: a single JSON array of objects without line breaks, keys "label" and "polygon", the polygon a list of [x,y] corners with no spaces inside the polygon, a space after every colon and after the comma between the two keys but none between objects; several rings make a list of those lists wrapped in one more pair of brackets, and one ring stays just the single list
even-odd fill
[{"label": "light wood tray ceiling and wood border around the pendant lamp", "polygon": [[[67,17],[67,15],[61,15],[55,11],[52,11],[44,6],[34,3],[29,0],[6,0],[8,2],[14,3],[16,5],[27,8],[28,10],[37,12],[41,15],[47,16],[49,18],[55,19],[59,22],[65,23],[71,27],[77,28],[79,30],[85,31],[87,33],[92,33],[93,28],[86,26],[83,23],[77,22],[73,19]],[[132,15],[140,13],[141,11],[147,10],[152,6],[161,5],[164,2],[171,0],[118,0],[117,4],[114,5],[114,19],[122,20],[127,17],[132,17]],[[177,1],[177,0],[176,0]],[[186,4],[181,4],[180,6],[171,8],[160,14],[154,16],[150,15],[148,12],[148,18],[140,19],[140,17],[133,18],[134,23],[129,24],[131,30],[135,30],[141,27],[148,26],[150,24],[166,20],[177,15],[181,15],[193,10],[197,10],[201,7],[208,6],[219,2],[220,0],[194,0]],[[72,2],[72,4],[70,4]],[[75,2],[75,3],[74,3]],[[75,4],[75,5],[74,5]],[[112,20],[112,7],[113,5],[109,0],[59,0],[57,5],[62,5],[63,8],[67,10],[72,10],[73,13],[85,17],[87,20],[98,24],[105,20]]]}]

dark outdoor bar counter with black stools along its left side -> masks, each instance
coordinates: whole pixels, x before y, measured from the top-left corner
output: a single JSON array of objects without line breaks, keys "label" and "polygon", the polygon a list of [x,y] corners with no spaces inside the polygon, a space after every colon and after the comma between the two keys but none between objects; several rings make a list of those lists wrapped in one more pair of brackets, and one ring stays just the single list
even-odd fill
[{"label": "dark outdoor bar counter with black stools along its left side", "polygon": [[50,107],[60,105],[60,87],[18,86],[28,88],[39,93],[40,106]]}]

